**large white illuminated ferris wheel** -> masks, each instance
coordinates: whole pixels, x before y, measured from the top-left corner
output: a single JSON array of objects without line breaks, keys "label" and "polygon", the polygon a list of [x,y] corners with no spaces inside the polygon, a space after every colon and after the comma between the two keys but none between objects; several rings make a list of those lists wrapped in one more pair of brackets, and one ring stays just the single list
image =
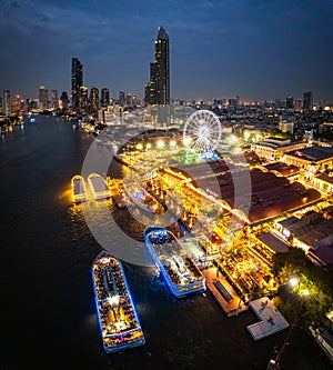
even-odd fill
[{"label": "large white illuminated ferris wheel", "polygon": [[221,133],[218,116],[210,110],[198,110],[185,122],[183,142],[189,151],[206,154],[216,149]]}]

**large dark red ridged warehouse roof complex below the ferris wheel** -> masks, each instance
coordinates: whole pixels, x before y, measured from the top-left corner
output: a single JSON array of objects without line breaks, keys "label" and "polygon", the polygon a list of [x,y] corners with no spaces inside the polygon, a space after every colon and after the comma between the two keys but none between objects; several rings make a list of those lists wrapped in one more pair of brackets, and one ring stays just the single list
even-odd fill
[{"label": "large dark red ridged warehouse roof complex below the ferris wheel", "polygon": [[254,168],[249,171],[248,168],[242,168],[233,172],[223,160],[211,161],[210,171],[204,163],[176,164],[175,168],[185,177],[191,173],[191,181],[195,187],[204,189],[206,194],[202,192],[202,196],[205,198],[212,194],[221,204],[238,209],[239,214],[245,212],[251,226],[309,207],[321,199],[316,189],[306,189],[302,183],[291,182],[268,169]]}]

